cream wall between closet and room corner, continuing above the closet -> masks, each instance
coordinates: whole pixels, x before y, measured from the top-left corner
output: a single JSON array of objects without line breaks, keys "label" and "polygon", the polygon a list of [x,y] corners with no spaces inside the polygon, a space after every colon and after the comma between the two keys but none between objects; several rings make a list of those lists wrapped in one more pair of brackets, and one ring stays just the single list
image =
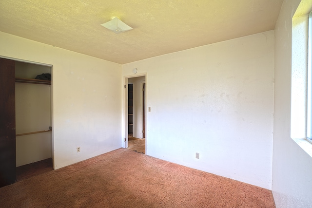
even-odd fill
[{"label": "cream wall between closet and room corner, continuing above the closet", "polygon": [[2,32],[0,45],[2,57],[53,66],[55,169],[121,147],[120,64]]}]

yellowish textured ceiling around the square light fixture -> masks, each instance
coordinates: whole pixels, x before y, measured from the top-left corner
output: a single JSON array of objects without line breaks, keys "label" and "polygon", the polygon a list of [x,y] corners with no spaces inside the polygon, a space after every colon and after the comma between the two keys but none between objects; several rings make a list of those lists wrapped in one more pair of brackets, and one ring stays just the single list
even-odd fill
[{"label": "yellowish textured ceiling around the square light fixture", "polygon": [[[0,31],[124,64],[274,29],[283,0],[0,0]],[[100,24],[117,16],[133,28]]]}]

